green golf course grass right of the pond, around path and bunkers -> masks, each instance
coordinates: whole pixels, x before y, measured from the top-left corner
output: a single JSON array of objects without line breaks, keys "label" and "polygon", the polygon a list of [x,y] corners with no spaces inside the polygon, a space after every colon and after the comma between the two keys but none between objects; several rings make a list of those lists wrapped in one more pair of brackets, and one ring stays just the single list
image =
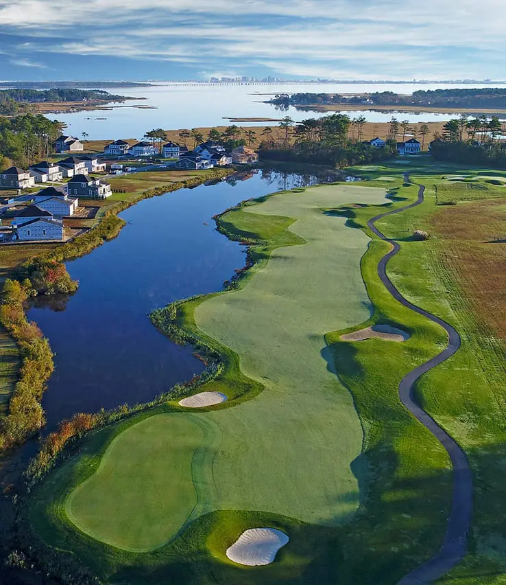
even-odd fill
[{"label": "green golf course grass right of the pond, around path and bunkers", "polygon": [[[383,219],[378,228],[401,244],[388,266],[392,282],[461,334],[459,352],[423,376],[416,391],[466,450],[474,472],[470,553],[441,582],[504,582],[504,289],[502,277],[493,274],[493,255],[504,254],[506,246],[503,203],[494,194],[500,185],[486,183],[492,190],[479,190],[484,198],[472,201],[461,185],[453,194],[457,205],[449,207],[436,205],[434,188],[448,185],[448,175],[481,182],[503,174],[433,164],[427,157],[401,162],[352,170],[381,189],[369,196],[357,184],[316,187],[248,203],[221,218],[229,233],[260,238],[252,250],[259,262],[243,288],[184,303],[176,321],[225,354],[224,374],[200,391],[218,389],[231,400],[199,413],[167,404],[93,433],[34,490],[27,510],[43,540],[73,551],[108,582],[139,584],[391,585],[437,552],[451,501],[451,467],[442,446],[400,404],[397,388],[408,371],[445,347],[446,334],[397,303],[379,281],[376,266],[389,249],[386,242],[372,240],[363,255],[367,220],[381,211],[381,194],[388,190],[390,206],[414,200],[418,188],[402,186],[409,168],[412,181],[428,186],[424,204]],[[477,214],[485,225],[477,227]],[[431,238],[413,241],[415,229]],[[293,245],[300,238],[306,244]],[[480,290],[498,309],[489,321]],[[341,341],[344,332],[373,323],[395,325],[411,338]],[[160,413],[169,421],[167,443],[160,433],[147,437],[147,445],[134,440],[136,428],[147,430]],[[186,427],[178,432],[170,422],[175,417],[205,421],[219,433],[198,446],[188,443]],[[163,469],[152,468],[154,488],[145,488],[144,478],[125,488],[129,468],[149,472],[149,445],[160,463],[180,444],[178,473],[188,470],[195,449],[193,481],[183,474],[169,481]],[[170,512],[173,526],[160,529],[156,518],[141,542],[147,533],[138,524],[130,527],[128,518],[135,509],[138,523],[141,492],[147,518],[156,505],[171,509],[169,495],[156,489],[160,481],[174,497],[184,491],[186,498],[180,516]],[[193,489],[193,521],[164,546],[133,553],[176,532]],[[115,548],[76,531],[66,505],[84,531],[106,542],[104,534],[114,533],[123,542]],[[282,529],[291,540],[270,566],[234,566],[224,551],[256,526]]]}]

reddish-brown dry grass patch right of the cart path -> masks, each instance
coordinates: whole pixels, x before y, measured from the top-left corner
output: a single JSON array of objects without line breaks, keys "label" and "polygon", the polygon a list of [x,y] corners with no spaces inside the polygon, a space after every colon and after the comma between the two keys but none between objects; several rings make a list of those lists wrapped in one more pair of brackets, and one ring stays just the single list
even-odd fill
[{"label": "reddish-brown dry grass patch right of the cart path", "polygon": [[475,312],[506,343],[506,199],[439,209],[443,263],[456,273]]}]

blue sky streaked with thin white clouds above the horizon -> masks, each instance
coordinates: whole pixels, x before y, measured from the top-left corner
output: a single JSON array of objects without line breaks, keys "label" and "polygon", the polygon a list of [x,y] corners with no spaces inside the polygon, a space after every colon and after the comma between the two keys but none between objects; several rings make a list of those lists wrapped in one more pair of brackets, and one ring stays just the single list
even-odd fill
[{"label": "blue sky streaked with thin white clouds above the horizon", "polygon": [[0,0],[0,79],[500,80],[505,21],[505,0]]}]

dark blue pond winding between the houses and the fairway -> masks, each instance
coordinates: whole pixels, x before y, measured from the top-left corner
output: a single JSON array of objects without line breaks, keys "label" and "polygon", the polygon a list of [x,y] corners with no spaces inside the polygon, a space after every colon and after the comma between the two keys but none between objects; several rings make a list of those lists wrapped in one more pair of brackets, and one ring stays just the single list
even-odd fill
[{"label": "dark blue pond winding between the houses and the fairway", "polygon": [[67,263],[80,282],[75,295],[29,310],[56,353],[43,398],[49,430],[76,412],[147,402],[202,371],[192,349],[158,333],[147,314],[221,290],[244,265],[244,246],[215,230],[215,214],[244,199],[326,179],[267,170],[245,177],[123,211],[127,225],[115,240]]}]

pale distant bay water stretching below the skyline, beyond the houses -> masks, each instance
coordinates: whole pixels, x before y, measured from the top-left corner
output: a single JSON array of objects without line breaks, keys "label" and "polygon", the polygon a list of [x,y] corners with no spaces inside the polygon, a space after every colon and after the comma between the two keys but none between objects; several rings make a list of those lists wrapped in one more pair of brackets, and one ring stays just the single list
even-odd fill
[{"label": "pale distant bay water stretching below the skyline, beyond the houses", "polygon": [[[156,109],[114,108],[106,111],[84,111],[71,114],[49,114],[67,124],[67,133],[80,137],[88,133],[90,139],[140,139],[152,128],[197,128],[207,126],[228,126],[226,117],[274,117],[289,115],[296,122],[308,117],[324,114],[302,112],[296,108],[279,111],[271,104],[261,103],[276,93],[365,93],[373,91],[394,91],[412,93],[419,89],[455,89],[457,87],[487,87],[483,84],[269,84],[269,85],[205,85],[178,84],[155,85],[152,87],[110,88],[110,93],[147,98],[126,102],[128,105],[155,106]],[[351,117],[365,115],[369,122],[388,122],[392,112],[346,112]],[[450,119],[448,114],[402,113],[397,117],[409,122],[437,122]],[[106,118],[106,119],[97,119]],[[241,122],[241,126],[248,123]],[[250,125],[258,126],[258,122]],[[267,125],[267,123],[260,123]],[[275,123],[272,123],[275,124]]]}]

